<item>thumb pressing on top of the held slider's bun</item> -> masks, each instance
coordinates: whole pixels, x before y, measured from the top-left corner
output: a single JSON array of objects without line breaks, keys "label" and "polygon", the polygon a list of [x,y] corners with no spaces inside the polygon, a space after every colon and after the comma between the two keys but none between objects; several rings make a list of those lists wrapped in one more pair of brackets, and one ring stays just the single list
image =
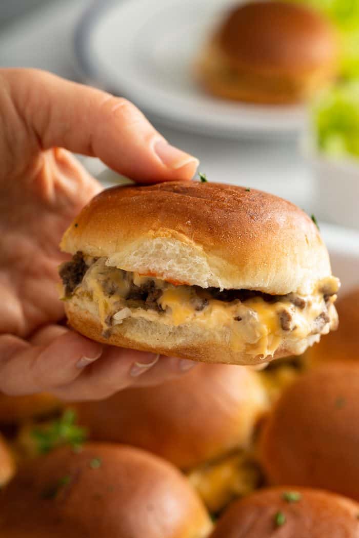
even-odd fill
[{"label": "thumb pressing on top of the held slider's bun", "polygon": [[46,150],[100,158],[131,179],[191,179],[199,161],[171,146],[129,101],[36,69],[3,69],[29,132]]}]

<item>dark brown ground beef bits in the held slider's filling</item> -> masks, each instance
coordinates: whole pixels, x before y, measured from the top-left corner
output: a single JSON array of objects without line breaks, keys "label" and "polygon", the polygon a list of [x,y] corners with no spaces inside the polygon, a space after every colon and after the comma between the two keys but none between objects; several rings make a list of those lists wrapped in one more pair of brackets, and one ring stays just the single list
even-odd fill
[{"label": "dark brown ground beef bits in the held slider's filling", "polygon": [[[73,257],[72,261],[68,261],[62,264],[59,272],[62,282],[64,283],[66,297],[71,297],[71,295],[75,291],[75,288],[81,284],[82,279],[85,276],[89,266],[94,261],[96,261],[96,258],[91,260],[91,262],[88,261],[87,264],[82,252],[77,252]],[[161,295],[163,294],[163,290],[156,287],[155,281],[147,280],[146,282],[144,282],[144,284],[137,286],[132,281],[131,273],[126,273],[125,271],[122,271],[122,273],[123,277],[128,279],[129,282],[129,291],[127,295],[123,298],[126,301],[126,306],[128,306],[129,308],[144,308],[145,310],[151,309],[155,310],[158,313],[164,312],[163,308],[158,302],[161,298]],[[224,289],[221,291],[220,288],[214,287],[202,289],[199,286],[192,286],[192,288],[195,292],[192,298],[192,306],[194,310],[196,310],[196,312],[200,312],[201,310],[205,309],[208,306],[210,299],[215,299],[217,301],[223,302],[240,301],[242,303],[244,303],[248,299],[252,299],[255,297],[260,297],[263,301],[268,303],[275,303],[277,301],[283,301],[285,299],[288,303],[288,308],[285,308],[278,312],[280,327],[285,332],[292,331],[295,329],[293,320],[293,306],[295,308],[298,308],[299,310],[302,310],[307,305],[305,299],[294,293],[282,296],[270,295],[268,293],[262,293],[249,289]],[[108,296],[112,296],[116,293],[119,293],[116,282],[111,279],[105,279],[103,281],[103,290],[104,293]],[[323,289],[321,290],[321,292],[323,293],[323,299],[325,300],[325,303],[327,303],[330,296],[335,293],[335,291],[329,289]],[[291,307],[290,305],[293,306]],[[242,321],[242,318],[240,316],[236,316],[234,319],[238,322]],[[110,324],[109,319],[107,320],[107,322],[108,324]],[[313,322],[312,334],[318,334],[319,332],[321,332],[325,324],[329,322],[330,318],[327,312],[323,311],[318,317],[316,317]]]}]

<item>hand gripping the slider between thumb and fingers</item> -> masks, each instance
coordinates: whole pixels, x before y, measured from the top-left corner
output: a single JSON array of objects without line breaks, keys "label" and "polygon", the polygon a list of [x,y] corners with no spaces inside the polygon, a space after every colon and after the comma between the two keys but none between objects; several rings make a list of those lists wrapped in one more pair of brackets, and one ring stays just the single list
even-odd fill
[{"label": "hand gripping the slider between thumb and fingers", "polygon": [[0,125],[0,391],[95,400],[189,369],[61,325],[56,284],[62,233],[101,190],[69,151],[142,183],[191,179],[198,161],[128,101],[37,70],[0,69]]}]

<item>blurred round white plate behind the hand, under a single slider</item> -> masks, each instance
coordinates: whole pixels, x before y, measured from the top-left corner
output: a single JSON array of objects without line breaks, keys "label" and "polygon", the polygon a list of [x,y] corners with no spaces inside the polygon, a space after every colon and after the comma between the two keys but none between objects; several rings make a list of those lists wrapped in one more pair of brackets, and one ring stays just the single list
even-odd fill
[{"label": "blurred round white plate behind the hand, under a single slider", "polygon": [[[203,134],[294,136],[305,110],[232,103],[196,85],[193,63],[233,0],[102,0],[82,17],[75,52],[86,79],[157,121]],[[238,0],[237,2],[238,3]]]}]

